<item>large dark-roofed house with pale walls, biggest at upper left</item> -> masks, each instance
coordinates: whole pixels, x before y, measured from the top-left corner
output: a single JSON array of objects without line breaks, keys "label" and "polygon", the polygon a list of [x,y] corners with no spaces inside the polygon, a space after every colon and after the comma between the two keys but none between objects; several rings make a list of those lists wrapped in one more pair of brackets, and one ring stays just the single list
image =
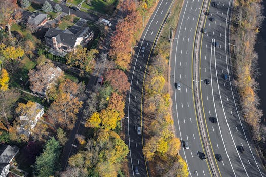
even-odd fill
[{"label": "large dark-roofed house with pale walls, biggest at upper left", "polygon": [[59,56],[65,56],[75,50],[78,45],[85,46],[93,38],[93,31],[85,27],[86,20],[80,19],[70,29],[61,30],[50,28],[45,33],[46,45],[51,49],[49,52]]}]

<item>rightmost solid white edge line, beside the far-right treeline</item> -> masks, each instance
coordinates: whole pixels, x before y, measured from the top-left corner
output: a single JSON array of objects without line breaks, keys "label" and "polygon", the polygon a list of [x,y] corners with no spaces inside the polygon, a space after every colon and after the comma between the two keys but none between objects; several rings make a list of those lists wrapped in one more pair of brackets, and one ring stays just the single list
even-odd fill
[{"label": "rightmost solid white edge line, beside the far-right treeline", "polygon": [[252,154],[252,157],[253,157],[253,159],[254,159],[256,165],[257,165],[257,168],[258,168],[258,170],[259,170],[259,173],[260,173],[260,175],[263,177],[263,175],[262,175],[262,173],[261,173],[261,171],[260,171],[260,169],[259,169],[259,167],[258,167],[257,161],[256,161],[256,159],[255,159],[255,157],[254,157],[254,154],[253,154],[253,152],[252,152],[252,150],[251,150],[251,148],[250,148],[250,146],[249,146],[249,143],[248,143],[248,140],[247,140],[247,137],[246,137],[246,133],[245,133],[245,131],[244,131],[244,128],[243,128],[243,125],[242,125],[242,122],[241,122],[241,119],[240,119],[240,116],[239,116],[239,113],[238,113],[237,105],[236,105],[236,102],[235,102],[235,97],[234,97],[233,90],[232,90],[231,80],[230,80],[230,76],[229,76],[229,68],[228,68],[228,62],[227,62],[227,45],[226,45],[226,36],[227,36],[227,26],[228,26],[228,25],[227,25],[227,24],[228,24],[227,21],[228,21],[229,7],[231,7],[231,3],[230,3],[230,2],[231,2],[231,0],[229,0],[229,6],[228,6],[228,9],[227,9],[226,24],[225,24],[225,57],[226,57],[227,75],[228,75],[228,78],[229,78],[229,83],[230,83],[231,93],[232,93],[232,96],[233,96],[233,100],[234,100],[235,108],[236,108],[236,111],[237,111],[238,119],[239,119],[239,121],[240,121],[240,125],[241,125],[241,127],[242,127],[243,132],[244,132],[244,136],[245,136],[246,142],[247,142],[247,144],[248,144],[248,147],[249,147],[249,150],[250,150],[250,152],[251,152],[251,154]]}]

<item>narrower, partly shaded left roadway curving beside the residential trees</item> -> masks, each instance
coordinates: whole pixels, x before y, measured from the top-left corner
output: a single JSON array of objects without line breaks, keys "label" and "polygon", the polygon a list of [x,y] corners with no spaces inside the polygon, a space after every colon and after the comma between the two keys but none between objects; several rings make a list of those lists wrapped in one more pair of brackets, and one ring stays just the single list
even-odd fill
[{"label": "narrower, partly shaded left roadway curving beside the residential trees", "polygon": [[[135,176],[135,168],[138,168],[139,174],[137,176],[150,176],[147,162],[142,153],[143,143],[145,142],[145,135],[143,135],[143,83],[145,81],[147,64],[151,51],[155,46],[156,38],[159,30],[162,27],[163,21],[168,14],[172,0],[162,0],[158,2],[154,13],[149,17],[148,24],[146,25],[141,39],[137,47],[132,46],[136,51],[130,73],[130,91],[127,95],[126,109],[128,110],[128,117],[125,121],[125,141],[129,145],[130,153],[128,155],[128,168],[130,176]],[[145,17],[148,18],[148,17]],[[141,52],[142,47],[145,47],[144,52]],[[137,127],[141,127],[141,135],[137,134]]]}]

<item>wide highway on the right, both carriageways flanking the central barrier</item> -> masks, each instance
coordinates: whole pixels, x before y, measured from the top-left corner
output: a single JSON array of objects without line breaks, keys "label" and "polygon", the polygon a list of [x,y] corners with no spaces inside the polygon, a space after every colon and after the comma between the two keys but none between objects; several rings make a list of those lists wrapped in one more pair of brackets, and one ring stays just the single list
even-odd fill
[{"label": "wide highway on the right, both carriageways flanking the central barrier", "polygon": [[[265,176],[262,164],[255,152],[248,128],[238,112],[239,100],[232,86],[228,53],[228,32],[231,1],[220,0],[217,6],[208,2],[208,16],[203,16],[204,29],[198,28],[198,18],[202,2],[185,0],[179,24],[173,40],[171,53],[170,83],[173,88],[173,107],[176,135],[188,142],[189,149],[181,150],[191,176],[212,176],[208,162],[199,156],[204,152],[197,116],[194,107],[192,69],[193,46],[196,32],[200,35],[199,75],[200,102],[205,131],[210,145],[212,159],[219,176]],[[204,10],[205,11],[205,10]],[[212,20],[214,18],[214,21]],[[218,42],[215,47],[215,42]],[[225,80],[226,74],[228,80]],[[210,85],[204,83],[210,80]],[[181,90],[177,90],[180,83]],[[213,123],[213,118],[217,123]],[[244,153],[239,147],[243,146]],[[222,161],[218,161],[221,154]]]}]

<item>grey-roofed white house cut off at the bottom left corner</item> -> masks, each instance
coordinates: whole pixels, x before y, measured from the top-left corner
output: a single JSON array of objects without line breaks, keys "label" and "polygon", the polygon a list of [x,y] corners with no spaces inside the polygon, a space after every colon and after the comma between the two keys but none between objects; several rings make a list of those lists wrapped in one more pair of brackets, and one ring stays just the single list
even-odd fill
[{"label": "grey-roofed white house cut off at the bottom left corner", "polygon": [[12,160],[18,152],[19,148],[16,146],[0,144],[0,177],[7,176]]}]

